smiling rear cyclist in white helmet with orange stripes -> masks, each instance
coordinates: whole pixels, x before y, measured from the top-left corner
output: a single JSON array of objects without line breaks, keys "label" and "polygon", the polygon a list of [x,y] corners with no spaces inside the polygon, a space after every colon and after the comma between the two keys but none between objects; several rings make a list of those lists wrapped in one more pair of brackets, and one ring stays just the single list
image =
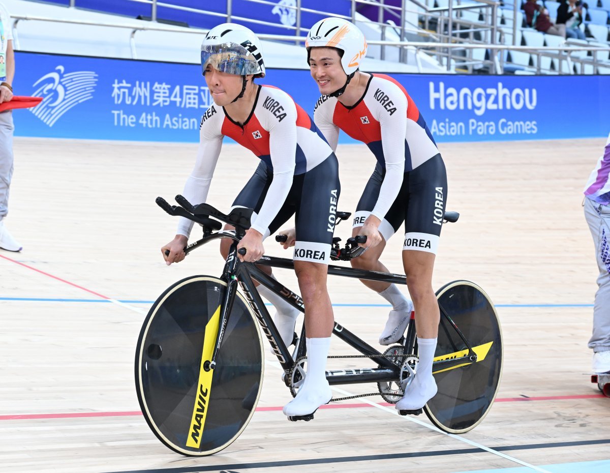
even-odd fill
[{"label": "smiling rear cyclist in white helmet with orange stripes", "polygon": [[362,282],[393,306],[381,344],[392,344],[403,336],[415,308],[417,375],[397,409],[417,411],[437,392],[432,360],[440,314],[432,270],[447,201],[445,165],[404,87],[389,76],[359,70],[367,42],[353,23],[341,18],[318,21],[309,30],[305,46],[311,76],[323,94],[315,106],[315,124],[333,150],[342,129],[366,143],[376,158],[353,223],[354,236],[367,236],[361,246],[368,250],[352,265],[386,272],[379,257],[404,222],[402,257],[413,302],[393,284]]}]

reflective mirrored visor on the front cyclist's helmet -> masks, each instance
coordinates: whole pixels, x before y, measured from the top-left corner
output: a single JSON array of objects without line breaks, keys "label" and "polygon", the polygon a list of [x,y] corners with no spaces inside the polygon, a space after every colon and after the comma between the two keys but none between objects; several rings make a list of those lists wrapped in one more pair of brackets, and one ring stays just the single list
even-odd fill
[{"label": "reflective mirrored visor on the front cyclist's helmet", "polygon": [[259,74],[259,64],[248,49],[236,43],[201,46],[201,72],[205,75],[207,65],[238,76]]}]

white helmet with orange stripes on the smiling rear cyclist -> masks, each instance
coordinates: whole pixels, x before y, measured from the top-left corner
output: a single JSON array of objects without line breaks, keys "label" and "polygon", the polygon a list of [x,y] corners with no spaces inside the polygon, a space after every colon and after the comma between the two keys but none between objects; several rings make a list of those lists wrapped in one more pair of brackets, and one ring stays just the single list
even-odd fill
[{"label": "white helmet with orange stripes on the smiling rear cyclist", "polygon": [[350,76],[360,67],[367,55],[367,40],[359,27],[343,18],[325,18],[314,24],[305,40],[307,63],[310,48],[337,48],[343,51],[341,65]]}]

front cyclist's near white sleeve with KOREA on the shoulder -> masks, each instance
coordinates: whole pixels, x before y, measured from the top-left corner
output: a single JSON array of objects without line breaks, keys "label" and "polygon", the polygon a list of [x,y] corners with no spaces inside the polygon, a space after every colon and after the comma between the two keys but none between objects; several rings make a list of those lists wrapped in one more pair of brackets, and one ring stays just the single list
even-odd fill
[{"label": "front cyclist's near white sleeve with KOREA on the shoulder", "polygon": [[251,228],[263,236],[288,197],[296,165],[296,106],[287,94],[282,93],[281,96],[278,94],[276,98],[284,107],[285,117],[279,120],[269,110],[262,107],[260,116],[257,115],[260,125],[269,132],[269,151],[273,166],[273,181],[271,181],[265,200],[251,225]]}]

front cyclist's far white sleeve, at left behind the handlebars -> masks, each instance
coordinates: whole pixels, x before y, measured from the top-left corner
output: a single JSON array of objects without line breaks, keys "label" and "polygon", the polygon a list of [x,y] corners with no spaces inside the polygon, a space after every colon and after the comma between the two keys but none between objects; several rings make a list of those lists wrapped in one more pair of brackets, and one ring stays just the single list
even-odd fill
[{"label": "front cyclist's far white sleeve, at left behind the handlebars", "polygon": [[[182,195],[193,205],[203,204],[206,201],[218,156],[220,156],[223,135],[220,134],[222,117],[221,115],[218,115],[218,117],[220,117],[220,124],[218,123],[219,120],[216,119],[217,117],[212,117],[212,119],[208,118],[206,121],[202,121],[201,128],[199,128],[199,148],[197,149],[195,168],[188,176],[182,191]],[[195,222],[188,220],[188,218],[180,217],[176,234],[188,238],[193,223]]]}]

